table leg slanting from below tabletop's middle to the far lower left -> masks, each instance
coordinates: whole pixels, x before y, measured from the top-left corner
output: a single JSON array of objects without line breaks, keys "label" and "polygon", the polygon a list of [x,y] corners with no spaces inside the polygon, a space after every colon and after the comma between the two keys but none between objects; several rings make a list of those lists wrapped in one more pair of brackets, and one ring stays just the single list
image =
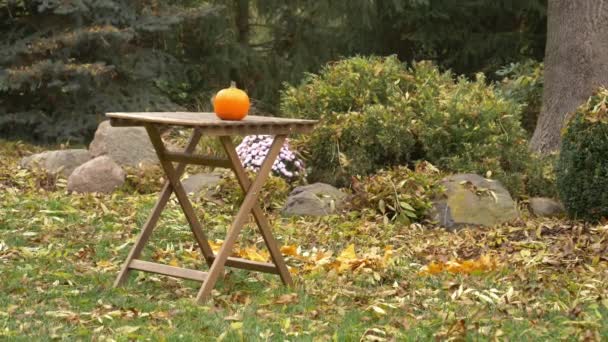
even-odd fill
[{"label": "table leg slanting from below tabletop's middle to the far lower left", "polygon": [[[198,142],[201,140],[201,136],[202,134],[200,130],[194,129],[194,132],[192,133],[192,136],[190,137],[190,140],[188,141],[184,152],[192,153],[196,149],[196,145],[198,144]],[[186,163],[180,163],[177,165],[175,173],[181,175],[184,172],[185,168]],[[163,189],[160,192],[160,196],[158,197],[158,200],[156,201],[156,204],[154,205],[154,208],[152,209],[148,220],[142,227],[142,230],[139,233],[137,240],[135,240],[135,244],[131,248],[127,259],[125,260],[124,264],[122,265],[122,268],[120,269],[118,277],[116,277],[116,280],[114,281],[114,287],[122,285],[129,277],[129,265],[131,264],[131,261],[139,258],[139,256],[141,255],[141,251],[146,245],[146,242],[148,242],[150,235],[152,235],[152,231],[158,223],[158,219],[160,218],[161,212],[163,211],[163,209],[167,205],[167,202],[169,201],[169,198],[171,197],[171,192],[173,192],[173,187],[171,186],[171,183],[167,180],[163,185]]]}]

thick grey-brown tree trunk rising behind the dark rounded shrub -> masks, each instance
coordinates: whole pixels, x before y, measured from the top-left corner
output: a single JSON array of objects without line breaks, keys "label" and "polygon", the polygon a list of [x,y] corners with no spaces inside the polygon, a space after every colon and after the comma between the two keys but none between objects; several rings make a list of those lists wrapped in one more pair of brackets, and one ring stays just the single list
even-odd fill
[{"label": "thick grey-brown tree trunk rising behind the dark rounded shrub", "polygon": [[608,86],[608,0],[549,0],[543,107],[532,150],[559,150],[568,113]]}]

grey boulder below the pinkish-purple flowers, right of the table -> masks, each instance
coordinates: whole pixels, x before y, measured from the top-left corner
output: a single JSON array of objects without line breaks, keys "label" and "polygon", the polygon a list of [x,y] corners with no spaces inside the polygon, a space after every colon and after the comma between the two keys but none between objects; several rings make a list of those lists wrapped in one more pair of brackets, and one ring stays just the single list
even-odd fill
[{"label": "grey boulder below the pinkish-purple flowers, right of the table", "polygon": [[282,214],[285,216],[324,216],[344,205],[346,194],[329,184],[299,186],[289,194]]}]

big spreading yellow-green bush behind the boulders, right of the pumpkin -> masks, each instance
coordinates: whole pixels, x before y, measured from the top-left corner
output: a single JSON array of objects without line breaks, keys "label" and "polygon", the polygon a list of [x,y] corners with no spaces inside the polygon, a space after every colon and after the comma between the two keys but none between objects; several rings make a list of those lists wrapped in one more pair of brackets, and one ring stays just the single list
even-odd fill
[{"label": "big spreading yellow-green bush behind the boulders, right of the pumpkin", "polygon": [[526,186],[520,108],[481,74],[454,80],[428,62],[407,68],[395,57],[355,57],[288,87],[281,108],[321,121],[301,144],[312,181],[345,185],[424,159],[445,171],[492,174],[516,196]]}]

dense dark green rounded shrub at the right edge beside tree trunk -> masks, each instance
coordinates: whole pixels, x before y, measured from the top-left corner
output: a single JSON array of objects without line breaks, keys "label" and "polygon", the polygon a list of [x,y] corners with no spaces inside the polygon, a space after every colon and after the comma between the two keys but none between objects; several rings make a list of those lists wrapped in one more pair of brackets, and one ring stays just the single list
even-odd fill
[{"label": "dense dark green rounded shrub at the right edge beside tree trunk", "polygon": [[571,217],[608,217],[607,89],[599,89],[570,118],[556,173],[559,196]]}]

